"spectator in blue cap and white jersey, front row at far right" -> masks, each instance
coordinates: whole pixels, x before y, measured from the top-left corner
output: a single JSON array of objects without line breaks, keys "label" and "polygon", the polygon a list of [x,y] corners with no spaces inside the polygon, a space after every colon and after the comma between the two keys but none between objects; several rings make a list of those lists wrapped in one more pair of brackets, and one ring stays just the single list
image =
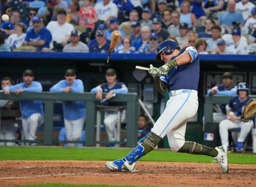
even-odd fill
[{"label": "spectator in blue cap and white jersey, front row at far right", "polygon": [[229,54],[249,54],[249,47],[247,42],[242,42],[241,38],[241,31],[238,29],[234,29],[232,31],[232,39],[234,44],[226,47],[226,51]]}]

